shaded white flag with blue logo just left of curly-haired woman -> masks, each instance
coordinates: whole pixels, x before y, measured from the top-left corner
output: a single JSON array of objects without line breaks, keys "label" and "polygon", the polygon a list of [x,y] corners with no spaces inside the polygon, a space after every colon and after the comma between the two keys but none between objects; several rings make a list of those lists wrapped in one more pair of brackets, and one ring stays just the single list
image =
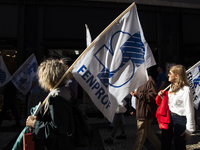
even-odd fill
[{"label": "shaded white flag with blue logo just left of curly-haired woman", "polygon": [[15,87],[26,95],[32,85],[33,78],[37,73],[38,63],[34,54],[32,54],[12,75],[12,82]]}]

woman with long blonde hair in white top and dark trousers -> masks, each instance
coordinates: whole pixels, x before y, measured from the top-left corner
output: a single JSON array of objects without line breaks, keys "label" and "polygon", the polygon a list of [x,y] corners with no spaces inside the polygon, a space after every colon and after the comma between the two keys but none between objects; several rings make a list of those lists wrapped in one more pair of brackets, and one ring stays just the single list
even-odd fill
[{"label": "woman with long blonde hair in white top and dark trousers", "polygon": [[[186,140],[195,131],[193,96],[190,91],[185,67],[175,65],[169,68],[168,106],[170,123],[162,130],[161,147],[170,149],[172,139],[177,150],[186,150]],[[162,98],[164,92],[158,95]]]}]

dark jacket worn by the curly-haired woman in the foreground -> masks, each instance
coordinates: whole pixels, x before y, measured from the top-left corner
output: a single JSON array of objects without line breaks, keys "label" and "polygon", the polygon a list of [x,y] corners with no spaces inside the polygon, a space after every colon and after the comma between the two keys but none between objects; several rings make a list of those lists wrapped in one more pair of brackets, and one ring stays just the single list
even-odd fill
[{"label": "dark jacket worn by the curly-haired woman in the foreground", "polygon": [[68,94],[67,88],[58,88],[49,97],[34,124],[34,137],[41,140],[48,150],[74,149],[73,142],[67,135],[74,126],[72,108],[66,102]]}]

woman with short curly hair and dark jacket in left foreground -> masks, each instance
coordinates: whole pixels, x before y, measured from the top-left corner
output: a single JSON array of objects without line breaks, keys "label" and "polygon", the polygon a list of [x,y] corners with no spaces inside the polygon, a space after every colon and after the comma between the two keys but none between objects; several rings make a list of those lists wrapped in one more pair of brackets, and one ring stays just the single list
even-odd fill
[{"label": "woman with short curly hair and dark jacket in left foreground", "polygon": [[50,93],[37,117],[29,116],[26,121],[26,126],[32,128],[36,139],[35,149],[39,149],[37,141],[48,150],[74,149],[73,141],[67,135],[74,130],[72,108],[67,102],[71,95],[65,87],[68,76],[55,88],[66,71],[63,63],[53,59],[45,60],[38,67],[39,85]]}]

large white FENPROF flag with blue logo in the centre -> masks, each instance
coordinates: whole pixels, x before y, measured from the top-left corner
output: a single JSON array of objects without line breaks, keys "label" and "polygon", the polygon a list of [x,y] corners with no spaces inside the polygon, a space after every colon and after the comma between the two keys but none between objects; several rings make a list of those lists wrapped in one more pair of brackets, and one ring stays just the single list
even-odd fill
[{"label": "large white FENPROF flag with blue logo in the centre", "polygon": [[72,73],[109,120],[122,100],[148,80],[155,65],[135,3],[118,16],[72,65]]}]

